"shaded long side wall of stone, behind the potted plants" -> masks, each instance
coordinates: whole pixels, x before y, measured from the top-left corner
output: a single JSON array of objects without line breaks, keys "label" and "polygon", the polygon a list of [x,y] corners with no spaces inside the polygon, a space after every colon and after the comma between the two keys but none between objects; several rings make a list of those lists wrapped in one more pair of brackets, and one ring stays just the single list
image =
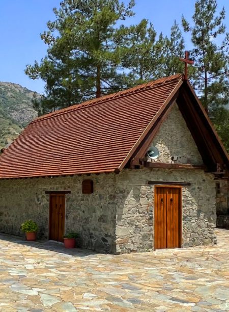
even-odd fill
[{"label": "shaded long side wall of stone, behind the potted plants", "polygon": [[71,190],[66,194],[65,232],[79,232],[83,248],[114,252],[116,203],[113,175],[93,175],[94,193],[82,194],[88,176],[0,180],[0,231],[23,235],[27,219],[38,223],[38,237],[48,238],[49,195],[45,191]]}]

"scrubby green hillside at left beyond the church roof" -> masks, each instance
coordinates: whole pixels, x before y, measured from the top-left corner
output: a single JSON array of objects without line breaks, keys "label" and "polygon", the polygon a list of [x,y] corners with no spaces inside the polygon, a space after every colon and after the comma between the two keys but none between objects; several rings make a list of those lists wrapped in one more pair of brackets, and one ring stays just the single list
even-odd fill
[{"label": "scrubby green hillside at left beyond the church roof", "polygon": [[20,85],[0,82],[0,149],[37,116],[31,102],[33,94]]}]

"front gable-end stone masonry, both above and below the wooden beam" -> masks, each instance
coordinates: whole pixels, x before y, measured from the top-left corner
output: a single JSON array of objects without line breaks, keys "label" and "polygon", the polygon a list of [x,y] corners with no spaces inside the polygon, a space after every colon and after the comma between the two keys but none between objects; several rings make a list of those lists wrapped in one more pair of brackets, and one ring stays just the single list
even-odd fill
[{"label": "front gable-end stone masonry, both above and below the wooden beam", "polygon": [[[168,117],[161,125],[152,144],[160,152],[156,160],[148,161],[171,163],[172,157],[177,163],[202,165],[189,129],[179,111],[173,106]],[[154,187],[146,186],[147,180],[187,181],[190,187],[182,190],[183,246],[215,244],[214,227],[216,222],[215,183],[211,176],[203,171],[192,170],[141,170],[137,176],[133,171],[123,173],[125,188],[132,181],[142,187],[133,186],[127,193],[127,201],[117,211],[117,251],[144,251],[153,248],[154,233]],[[122,176],[122,173],[121,175]]]}]

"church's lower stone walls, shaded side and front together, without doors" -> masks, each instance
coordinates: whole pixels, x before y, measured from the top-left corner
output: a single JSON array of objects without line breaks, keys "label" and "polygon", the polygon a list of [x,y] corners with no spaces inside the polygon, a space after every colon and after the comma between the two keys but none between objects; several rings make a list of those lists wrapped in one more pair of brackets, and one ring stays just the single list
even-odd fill
[{"label": "church's lower stone walls, shaded side and front together, without doors", "polygon": [[65,230],[80,233],[83,247],[111,253],[154,248],[154,187],[148,180],[188,181],[183,188],[183,246],[216,243],[215,183],[199,170],[124,169],[92,174],[94,193],[82,194],[88,176],[0,180],[0,231],[23,235],[20,225],[33,219],[39,237],[48,237],[49,195],[66,194]]}]

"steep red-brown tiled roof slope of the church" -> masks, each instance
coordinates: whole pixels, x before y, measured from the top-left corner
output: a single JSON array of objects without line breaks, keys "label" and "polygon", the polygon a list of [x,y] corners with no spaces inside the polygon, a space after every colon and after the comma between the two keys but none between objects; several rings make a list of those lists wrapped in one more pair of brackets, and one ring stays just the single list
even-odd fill
[{"label": "steep red-brown tiled roof slope of the church", "polygon": [[174,75],[35,119],[1,155],[0,178],[122,169],[181,84]]}]

